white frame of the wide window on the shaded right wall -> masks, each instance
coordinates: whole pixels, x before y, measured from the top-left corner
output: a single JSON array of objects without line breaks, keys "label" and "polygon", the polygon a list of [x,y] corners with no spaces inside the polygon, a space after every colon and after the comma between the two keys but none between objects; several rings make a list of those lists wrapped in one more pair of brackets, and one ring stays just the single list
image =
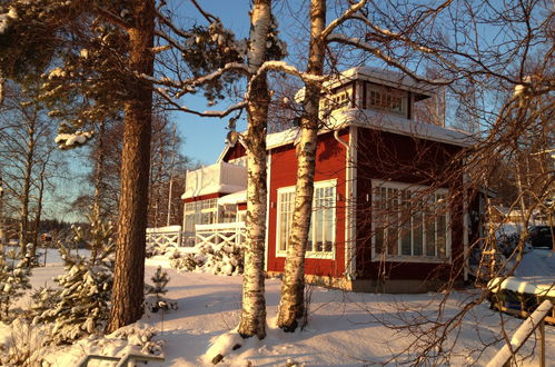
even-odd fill
[{"label": "white frame of the wide window on the shaded right wall", "polygon": [[[398,227],[398,232],[397,232],[397,254],[398,255],[384,255],[381,252],[376,252],[376,214],[374,211],[374,205],[377,201],[377,188],[392,188],[392,189],[397,189],[397,190],[409,190],[412,192],[418,192],[418,191],[425,191],[429,190],[429,187],[426,186],[419,186],[419,185],[413,185],[413,184],[406,184],[406,182],[395,182],[395,181],[383,181],[383,180],[377,180],[373,179],[371,180],[371,206],[373,206],[373,216],[371,216],[371,259],[373,261],[396,261],[396,262],[434,262],[434,264],[450,264],[452,262],[452,215],[450,215],[450,207],[446,206],[446,234],[445,234],[445,257],[439,257],[438,255],[435,256],[427,256],[426,255],[426,229],[423,228],[423,255],[402,255],[403,248],[402,248],[402,236],[400,236],[400,227]],[[439,188],[434,190],[434,192],[429,192],[433,195],[444,195],[445,198],[447,199],[449,197],[449,190],[445,188]],[[425,196],[428,196],[428,192],[426,192]],[[424,214],[424,211],[422,212]],[[400,210],[398,211],[398,216],[400,216]],[[413,228],[413,216],[410,216],[410,228]],[[435,224],[434,224],[435,226]],[[384,235],[385,236],[385,235]],[[412,244],[414,244],[414,232],[413,230],[410,231],[412,236]],[[436,245],[434,245],[436,246]],[[437,252],[437,247],[435,248]]]}]

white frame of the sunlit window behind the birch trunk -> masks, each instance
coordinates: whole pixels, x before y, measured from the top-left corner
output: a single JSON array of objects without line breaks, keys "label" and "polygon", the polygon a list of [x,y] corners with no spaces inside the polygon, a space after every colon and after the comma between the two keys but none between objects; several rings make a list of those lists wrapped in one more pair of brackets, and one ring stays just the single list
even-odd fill
[{"label": "white frame of the sunlit window behind the birch trunk", "polygon": [[[331,229],[331,251],[306,251],[306,258],[310,259],[335,259],[336,258],[336,237],[337,237],[337,179],[330,179],[330,180],[323,180],[323,181],[316,181],[314,182],[314,189],[316,192],[316,189],[319,188],[326,188],[326,187],[333,187],[334,188],[334,208],[333,208],[333,217],[331,217],[331,222],[333,222],[333,229]],[[276,257],[286,257],[287,256],[287,246],[285,250],[279,249],[279,244],[281,240],[283,234],[280,232],[280,227],[281,227],[281,195],[283,194],[295,194],[295,186],[287,186],[287,187],[280,187],[277,190],[277,210],[276,210]],[[295,202],[295,196],[294,196],[294,202]],[[313,198],[313,208],[314,208],[314,198]],[[310,227],[313,226],[314,221],[314,216],[315,211],[313,210],[313,215],[310,216]],[[291,218],[293,218],[293,212],[291,212]],[[313,234],[313,231],[309,231],[309,234]],[[315,236],[313,234],[313,236]],[[314,242],[314,238],[313,238]]]}]

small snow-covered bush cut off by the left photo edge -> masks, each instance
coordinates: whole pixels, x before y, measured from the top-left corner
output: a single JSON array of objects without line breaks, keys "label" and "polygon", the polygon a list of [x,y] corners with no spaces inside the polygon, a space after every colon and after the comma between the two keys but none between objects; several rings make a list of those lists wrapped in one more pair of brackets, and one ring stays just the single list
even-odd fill
[{"label": "small snow-covered bush cut off by the left photo edge", "polygon": [[29,259],[19,259],[14,250],[0,254],[0,320],[11,321],[14,310],[11,305],[31,288]]}]

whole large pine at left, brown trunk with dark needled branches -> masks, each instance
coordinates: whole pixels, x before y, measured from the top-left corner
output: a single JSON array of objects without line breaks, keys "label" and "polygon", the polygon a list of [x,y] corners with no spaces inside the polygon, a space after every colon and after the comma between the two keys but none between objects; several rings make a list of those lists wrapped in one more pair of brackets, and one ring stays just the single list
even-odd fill
[{"label": "whole large pine at left, brown trunk with dark needled branches", "polygon": [[[0,3],[0,78],[21,81],[31,72],[44,72],[42,98],[51,103],[51,116],[61,120],[57,142],[61,148],[86,143],[92,138],[87,123],[125,112],[121,151],[121,194],[117,230],[115,284],[108,331],[135,323],[142,315],[145,247],[151,140],[152,90],[180,98],[195,92],[189,80],[240,61],[221,23],[180,31],[163,16],[163,4],[153,0],[16,0]],[[158,32],[155,18],[176,37]],[[212,21],[214,20],[214,21]],[[176,42],[176,38],[179,39]],[[197,42],[197,40],[199,40]],[[266,43],[264,43],[266,44]],[[155,56],[172,49],[179,66],[152,88]],[[53,68],[56,63],[56,68]],[[160,68],[163,75],[163,65]],[[166,70],[167,71],[167,70]],[[224,83],[236,76],[205,79],[209,99],[220,98]],[[176,91],[177,89],[177,91]],[[65,106],[76,108],[65,108]]]}]

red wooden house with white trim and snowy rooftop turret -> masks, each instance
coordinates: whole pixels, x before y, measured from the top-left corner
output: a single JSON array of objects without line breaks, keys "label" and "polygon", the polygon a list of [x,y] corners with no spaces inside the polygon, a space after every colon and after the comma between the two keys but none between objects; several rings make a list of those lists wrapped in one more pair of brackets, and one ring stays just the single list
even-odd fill
[{"label": "red wooden house with white trim and snowy rooftop turret", "polygon": [[[468,136],[417,122],[415,103],[434,97],[434,90],[398,73],[354,68],[328,87],[306,274],[346,289],[392,292],[464,280],[468,210],[455,158],[470,146]],[[269,274],[284,269],[297,135],[291,128],[267,136]],[[182,199],[190,244],[200,232],[219,231],[224,238],[244,229],[245,166],[238,142],[227,146],[216,165],[188,172]]]}]

